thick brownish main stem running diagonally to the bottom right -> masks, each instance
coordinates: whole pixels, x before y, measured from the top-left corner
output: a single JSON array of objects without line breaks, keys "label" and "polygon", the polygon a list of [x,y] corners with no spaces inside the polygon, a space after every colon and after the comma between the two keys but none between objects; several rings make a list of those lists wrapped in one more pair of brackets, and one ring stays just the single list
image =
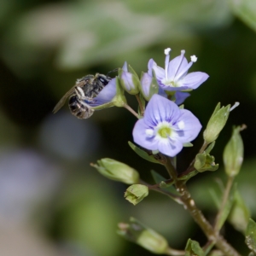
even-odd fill
[{"label": "thick brownish main stem running diagonally to the bottom right", "polygon": [[183,181],[177,180],[177,172],[174,170],[171,160],[166,161],[166,169],[172,175],[184,208],[189,211],[192,218],[194,218],[195,223],[201,227],[201,230],[207,236],[208,241],[214,242],[216,247],[218,247],[218,249],[221,250],[225,256],[240,256],[240,254],[236,252],[235,248],[231,247],[230,244],[224,240],[224,237],[220,236],[218,232],[212,228],[212,225],[209,224],[200,209],[195,206],[195,201],[191,198],[185,183],[183,183]]}]

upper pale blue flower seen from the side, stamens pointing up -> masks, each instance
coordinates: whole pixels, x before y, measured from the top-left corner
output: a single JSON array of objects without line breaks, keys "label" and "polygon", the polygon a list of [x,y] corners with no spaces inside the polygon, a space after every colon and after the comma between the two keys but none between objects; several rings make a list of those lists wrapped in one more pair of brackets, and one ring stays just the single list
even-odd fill
[{"label": "upper pale blue flower seen from the side, stamens pointing up", "polygon": [[195,55],[191,56],[191,61],[188,63],[187,59],[184,57],[185,50],[182,50],[181,55],[169,61],[170,51],[170,48],[165,49],[165,69],[158,67],[153,59],[148,61],[148,73],[152,73],[154,69],[156,79],[163,90],[193,90],[208,79],[209,76],[207,73],[188,73],[189,68],[197,61]]}]

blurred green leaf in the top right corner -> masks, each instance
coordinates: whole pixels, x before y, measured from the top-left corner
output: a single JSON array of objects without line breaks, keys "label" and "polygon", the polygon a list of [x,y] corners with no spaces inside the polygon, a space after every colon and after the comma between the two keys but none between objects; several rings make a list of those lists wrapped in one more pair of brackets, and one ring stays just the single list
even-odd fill
[{"label": "blurred green leaf in the top right corner", "polygon": [[256,31],[256,2],[255,0],[230,0],[233,13],[239,17],[247,26]]}]

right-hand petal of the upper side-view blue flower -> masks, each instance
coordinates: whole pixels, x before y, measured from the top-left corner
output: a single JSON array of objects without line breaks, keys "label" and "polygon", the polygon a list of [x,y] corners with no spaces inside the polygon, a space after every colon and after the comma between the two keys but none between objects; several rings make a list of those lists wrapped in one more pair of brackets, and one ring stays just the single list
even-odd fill
[{"label": "right-hand petal of the upper side-view blue flower", "polygon": [[208,79],[209,75],[203,72],[193,72],[187,74],[180,83],[182,86],[187,86],[190,89],[196,89],[199,87],[203,82]]}]

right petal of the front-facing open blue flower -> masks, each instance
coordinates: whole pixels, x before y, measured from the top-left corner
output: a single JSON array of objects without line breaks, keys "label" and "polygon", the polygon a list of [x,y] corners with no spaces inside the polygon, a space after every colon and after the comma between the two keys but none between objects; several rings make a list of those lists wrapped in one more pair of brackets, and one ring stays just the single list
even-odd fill
[{"label": "right petal of the front-facing open blue flower", "polygon": [[177,131],[178,140],[182,143],[189,143],[198,136],[201,131],[201,123],[199,119],[187,109],[180,109],[180,113],[176,125],[179,121],[183,121],[184,128],[182,131]]}]

